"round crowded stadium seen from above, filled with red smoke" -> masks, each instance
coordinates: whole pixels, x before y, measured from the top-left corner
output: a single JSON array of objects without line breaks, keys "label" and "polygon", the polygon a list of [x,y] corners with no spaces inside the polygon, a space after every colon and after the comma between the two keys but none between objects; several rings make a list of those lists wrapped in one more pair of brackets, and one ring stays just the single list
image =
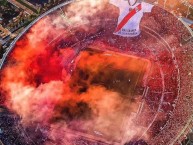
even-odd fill
[{"label": "round crowded stadium seen from above, filled with red smoke", "polygon": [[68,1],[17,37],[0,72],[10,144],[180,144],[193,125],[192,33],[154,6],[122,37],[118,16],[106,0]]}]

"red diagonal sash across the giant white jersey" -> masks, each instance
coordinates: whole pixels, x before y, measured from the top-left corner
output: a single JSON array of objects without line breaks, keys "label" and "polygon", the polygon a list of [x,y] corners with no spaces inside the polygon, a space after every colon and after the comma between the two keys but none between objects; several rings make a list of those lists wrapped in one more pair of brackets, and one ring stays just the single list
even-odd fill
[{"label": "red diagonal sash across the giant white jersey", "polygon": [[115,33],[120,31],[125,24],[138,12],[141,10],[141,4],[137,5],[133,10],[131,10],[124,18],[123,20],[118,24]]}]

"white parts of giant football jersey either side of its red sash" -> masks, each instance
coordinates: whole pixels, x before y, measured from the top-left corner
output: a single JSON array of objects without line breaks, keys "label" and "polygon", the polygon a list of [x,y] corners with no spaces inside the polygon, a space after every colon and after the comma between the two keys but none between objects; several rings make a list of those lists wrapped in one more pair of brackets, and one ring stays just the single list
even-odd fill
[{"label": "white parts of giant football jersey either side of its red sash", "polygon": [[[133,6],[130,6],[128,0],[110,0],[110,3],[117,6],[120,10],[118,24],[125,18],[125,16],[138,6],[140,3],[136,3]],[[141,10],[133,15],[129,21],[122,27],[118,32],[115,32],[115,35],[120,35],[124,37],[135,37],[140,34],[139,24],[141,18],[143,17],[144,12],[151,12],[153,5],[141,2]]]}]

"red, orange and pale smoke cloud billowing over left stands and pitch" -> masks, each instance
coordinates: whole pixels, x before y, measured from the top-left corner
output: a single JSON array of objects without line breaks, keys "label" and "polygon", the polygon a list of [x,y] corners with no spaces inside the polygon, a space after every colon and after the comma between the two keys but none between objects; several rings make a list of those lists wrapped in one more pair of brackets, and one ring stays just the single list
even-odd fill
[{"label": "red, orange and pale smoke cloud billowing over left stands and pitch", "polygon": [[[99,15],[104,3],[87,0],[79,2],[79,7],[70,5],[63,9],[69,17],[70,31],[58,10],[58,15],[41,19],[16,43],[1,72],[1,88],[6,92],[5,104],[22,117],[24,126],[31,122],[48,125],[48,136],[56,141],[67,128],[91,135],[99,131],[98,137],[102,134],[113,141],[119,140],[123,132],[127,141],[144,130],[133,122],[132,113],[138,109],[140,96],[134,89],[141,87],[140,73],[145,74],[150,62],[112,52],[108,56],[97,50],[78,53],[79,49],[91,46],[91,40],[86,44],[87,37],[105,27],[102,22],[99,28],[100,22],[90,26],[91,16]],[[104,41],[100,40],[101,46],[118,50]],[[91,41],[94,42],[97,40]],[[113,82],[112,78],[124,81]],[[127,85],[130,81],[135,83],[135,79],[140,83]],[[127,127],[122,128],[125,114],[130,119]]]}]

